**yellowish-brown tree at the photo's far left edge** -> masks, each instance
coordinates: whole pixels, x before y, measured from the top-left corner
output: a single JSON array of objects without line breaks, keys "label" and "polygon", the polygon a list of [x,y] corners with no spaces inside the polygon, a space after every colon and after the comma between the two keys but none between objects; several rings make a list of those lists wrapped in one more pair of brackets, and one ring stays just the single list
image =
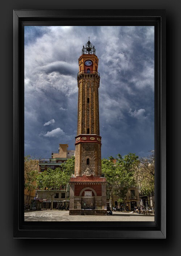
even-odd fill
[{"label": "yellowish-brown tree at the photo's far left edge", "polygon": [[24,157],[24,188],[28,190],[30,200],[30,194],[32,190],[36,189],[36,181],[38,174],[38,160],[31,158],[31,156]]}]

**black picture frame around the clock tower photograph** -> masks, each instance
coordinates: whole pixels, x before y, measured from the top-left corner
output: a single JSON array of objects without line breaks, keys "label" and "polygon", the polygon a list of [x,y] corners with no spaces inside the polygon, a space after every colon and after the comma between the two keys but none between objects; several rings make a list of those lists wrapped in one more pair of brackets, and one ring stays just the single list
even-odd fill
[{"label": "black picture frame around the clock tower photograph", "polygon": [[[155,221],[24,222],[24,26],[155,26]],[[14,10],[13,179],[14,238],[166,238],[166,13],[165,10]]]}]

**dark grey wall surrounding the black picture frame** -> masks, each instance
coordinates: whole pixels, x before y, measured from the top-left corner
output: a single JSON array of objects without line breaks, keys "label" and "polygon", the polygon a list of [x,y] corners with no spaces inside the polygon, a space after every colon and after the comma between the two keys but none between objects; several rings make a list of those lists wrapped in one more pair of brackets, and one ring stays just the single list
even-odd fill
[{"label": "dark grey wall surrounding the black picture frame", "polygon": [[[1,2],[1,251],[3,255],[178,255],[180,229],[180,95],[181,19],[178,0],[6,0]],[[49,240],[12,238],[12,85],[13,9],[166,9],[167,11],[167,134],[168,203],[166,240]],[[5,159],[5,155],[9,160]],[[8,188],[8,189],[7,189]],[[179,208],[179,209],[178,209]],[[67,244],[67,246],[66,246]],[[71,244],[68,245],[68,244]]]}]

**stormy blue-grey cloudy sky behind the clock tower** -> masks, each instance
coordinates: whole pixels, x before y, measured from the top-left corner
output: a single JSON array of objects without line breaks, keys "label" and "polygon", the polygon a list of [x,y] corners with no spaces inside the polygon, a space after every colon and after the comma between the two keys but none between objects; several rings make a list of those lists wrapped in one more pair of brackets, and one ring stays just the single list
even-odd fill
[{"label": "stormy blue-grey cloudy sky behind the clock tower", "polygon": [[78,59],[88,41],[100,72],[101,156],[154,149],[154,27],[25,26],[25,155],[75,150]]}]

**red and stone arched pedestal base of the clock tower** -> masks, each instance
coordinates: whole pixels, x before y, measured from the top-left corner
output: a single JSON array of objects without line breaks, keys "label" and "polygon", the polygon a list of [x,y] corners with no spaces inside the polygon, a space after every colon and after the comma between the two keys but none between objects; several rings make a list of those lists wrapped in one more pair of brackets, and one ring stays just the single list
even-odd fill
[{"label": "red and stone arched pedestal base of the clock tower", "polygon": [[70,215],[106,215],[106,179],[77,176],[70,179]]}]

